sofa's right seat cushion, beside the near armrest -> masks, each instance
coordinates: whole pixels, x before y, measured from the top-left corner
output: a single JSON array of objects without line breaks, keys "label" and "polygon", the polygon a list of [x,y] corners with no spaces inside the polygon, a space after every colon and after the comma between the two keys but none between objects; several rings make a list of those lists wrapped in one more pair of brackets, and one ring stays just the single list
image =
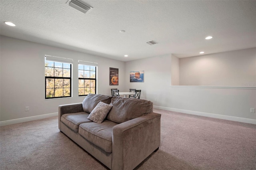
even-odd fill
[{"label": "sofa's right seat cushion, beside the near armrest", "polygon": [[86,140],[92,142],[94,145],[105,150],[106,152],[112,152],[112,128],[118,125],[111,121],[104,121],[101,124],[98,123],[82,123],[79,126],[78,133]]}]

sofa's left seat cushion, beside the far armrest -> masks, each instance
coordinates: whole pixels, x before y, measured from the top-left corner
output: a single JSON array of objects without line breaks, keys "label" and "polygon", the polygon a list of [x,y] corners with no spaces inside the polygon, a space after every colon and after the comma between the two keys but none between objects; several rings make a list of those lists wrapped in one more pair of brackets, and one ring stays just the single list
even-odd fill
[{"label": "sofa's left seat cushion, beside the far armrest", "polygon": [[79,125],[82,123],[92,122],[87,117],[89,113],[78,112],[78,113],[68,113],[62,115],[60,121],[64,123],[67,127],[72,129],[74,132],[78,133]]}]

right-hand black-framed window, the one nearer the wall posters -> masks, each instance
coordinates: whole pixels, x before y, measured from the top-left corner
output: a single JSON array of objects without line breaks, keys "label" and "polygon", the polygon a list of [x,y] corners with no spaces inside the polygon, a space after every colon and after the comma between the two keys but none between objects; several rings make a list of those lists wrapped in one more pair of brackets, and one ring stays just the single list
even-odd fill
[{"label": "right-hand black-framed window, the one nearer the wall posters", "polygon": [[96,94],[96,66],[78,64],[78,95]]}]

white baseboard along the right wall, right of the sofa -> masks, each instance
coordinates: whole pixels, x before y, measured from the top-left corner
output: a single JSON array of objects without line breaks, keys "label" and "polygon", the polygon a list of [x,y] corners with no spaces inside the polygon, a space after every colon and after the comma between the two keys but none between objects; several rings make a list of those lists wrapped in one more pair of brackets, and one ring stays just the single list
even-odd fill
[{"label": "white baseboard along the right wall, right of the sofa", "polygon": [[237,122],[243,122],[243,123],[256,124],[255,119],[246,119],[246,118],[241,118],[241,117],[217,115],[217,114],[197,112],[197,111],[188,111],[188,110],[183,110],[183,109],[175,109],[175,108],[162,107],[162,106],[154,106],[154,109],[162,109],[162,110],[166,110],[166,111],[187,113],[187,114],[191,114],[191,115],[198,115],[198,116],[212,117],[212,118],[218,118],[218,119],[225,119],[225,120],[229,120],[229,121],[237,121]]}]

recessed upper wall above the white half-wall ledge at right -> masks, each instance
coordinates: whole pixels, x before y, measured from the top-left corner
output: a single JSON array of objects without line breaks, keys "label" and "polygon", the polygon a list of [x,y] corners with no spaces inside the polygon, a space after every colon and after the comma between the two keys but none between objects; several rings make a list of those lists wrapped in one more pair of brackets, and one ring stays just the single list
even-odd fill
[{"label": "recessed upper wall above the white half-wall ledge at right", "polygon": [[180,58],[180,85],[256,86],[256,48]]}]

